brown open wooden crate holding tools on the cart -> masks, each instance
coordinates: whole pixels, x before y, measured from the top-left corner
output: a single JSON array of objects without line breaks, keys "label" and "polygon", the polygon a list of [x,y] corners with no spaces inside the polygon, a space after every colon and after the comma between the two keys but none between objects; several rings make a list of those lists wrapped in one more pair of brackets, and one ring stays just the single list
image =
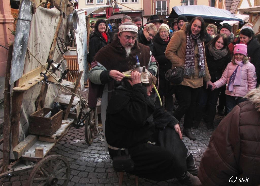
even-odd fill
[{"label": "brown open wooden crate holding tools on the cart", "polygon": [[53,135],[62,124],[62,110],[51,118],[43,117],[51,108],[42,108],[30,115],[29,119],[29,133],[43,136]]}]

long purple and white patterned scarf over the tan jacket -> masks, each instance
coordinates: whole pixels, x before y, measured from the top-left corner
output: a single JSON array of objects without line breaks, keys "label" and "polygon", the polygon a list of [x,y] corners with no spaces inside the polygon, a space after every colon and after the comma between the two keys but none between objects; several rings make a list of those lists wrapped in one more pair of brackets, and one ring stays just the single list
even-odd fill
[{"label": "long purple and white patterned scarf over the tan jacket", "polygon": [[204,77],[205,74],[205,55],[203,42],[200,40],[200,34],[193,35],[187,33],[186,51],[185,51],[185,63],[184,63],[184,75],[194,75],[195,74],[195,52],[194,43],[192,39],[197,40],[198,50],[199,50],[199,78]]}]

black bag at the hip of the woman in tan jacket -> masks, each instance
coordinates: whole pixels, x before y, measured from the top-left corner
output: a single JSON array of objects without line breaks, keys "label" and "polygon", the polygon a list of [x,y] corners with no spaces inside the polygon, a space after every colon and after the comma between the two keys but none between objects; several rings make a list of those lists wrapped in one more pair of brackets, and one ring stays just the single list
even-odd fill
[{"label": "black bag at the hip of the woman in tan jacket", "polygon": [[174,85],[179,85],[183,81],[183,68],[175,67],[167,70],[165,79]]}]

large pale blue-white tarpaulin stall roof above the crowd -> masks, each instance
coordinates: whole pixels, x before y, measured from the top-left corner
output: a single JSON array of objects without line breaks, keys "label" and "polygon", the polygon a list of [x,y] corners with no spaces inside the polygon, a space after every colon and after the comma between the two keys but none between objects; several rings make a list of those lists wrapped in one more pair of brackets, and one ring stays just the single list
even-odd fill
[{"label": "large pale blue-white tarpaulin stall roof above the crowd", "polygon": [[230,11],[223,10],[219,8],[214,8],[206,5],[190,5],[190,6],[174,6],[169,18],[178,18],[179,16],[201,16],[204,19],[213,19],[213,20],[235,20],[243,22],[242,19],[239,19],[233,16]]}]

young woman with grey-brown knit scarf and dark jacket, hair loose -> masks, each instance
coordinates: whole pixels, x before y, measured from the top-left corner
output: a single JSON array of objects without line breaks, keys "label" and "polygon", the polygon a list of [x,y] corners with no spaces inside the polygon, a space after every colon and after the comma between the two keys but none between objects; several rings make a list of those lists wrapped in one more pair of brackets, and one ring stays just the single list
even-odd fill
[{"label": "young woman with grey-brown knit scarf and dark jacket, hair loose", "polygon": [[[211,81],[215,82],[221,78],[222,72],[231,61],[230,52],[228,49],[228,38],[226,35],[219,34],[211,40],[205,46],[205,53]],[[207,129],[214,129],[213,120],[216,114],[216,105],[220,91],[221,88],[216,88],[213,91],[206,89],[206,83],[204,83],[199,95],[192,128],[198,128],[203,110],[207,104]]]}]

